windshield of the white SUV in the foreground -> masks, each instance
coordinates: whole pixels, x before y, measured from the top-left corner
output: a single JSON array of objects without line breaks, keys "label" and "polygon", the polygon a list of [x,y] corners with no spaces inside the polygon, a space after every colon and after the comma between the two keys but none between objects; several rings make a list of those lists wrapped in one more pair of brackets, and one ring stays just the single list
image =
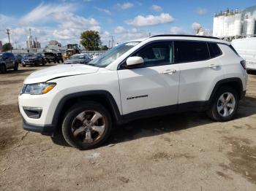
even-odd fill
[{"label": "windshield of the white SUV in the foreground", "polygon": [[128,50],[130,50],[132,47],[134,47],[139,43],[140,42],[126,42],[124,44],[119,44],[118,46],[113,47],[112,49],[108,50],[102,55],[99,55],[99,57],[89,62],[89,65],[97,66],[97,67],[108,66],[113,61],[116,61],[118,57],[120,57],[125,52],[127,52]]}]

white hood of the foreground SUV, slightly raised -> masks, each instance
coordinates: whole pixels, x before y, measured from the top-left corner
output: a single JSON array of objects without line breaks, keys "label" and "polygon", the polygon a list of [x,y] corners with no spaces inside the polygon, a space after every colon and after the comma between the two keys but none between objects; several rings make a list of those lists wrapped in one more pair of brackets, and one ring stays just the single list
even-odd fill
[{"label": "white hood of the foreground SUV, slightly raised", "polygon": [[24,81],[24,84],[33,84],[39,82],[47,82],[50,79],[59,77],[68,77],[80,74],[91,74],[99,70],[98,67],[88,66],[83,64],[61,64],[51,66],[48,69],[35,71],[29,75]]}]

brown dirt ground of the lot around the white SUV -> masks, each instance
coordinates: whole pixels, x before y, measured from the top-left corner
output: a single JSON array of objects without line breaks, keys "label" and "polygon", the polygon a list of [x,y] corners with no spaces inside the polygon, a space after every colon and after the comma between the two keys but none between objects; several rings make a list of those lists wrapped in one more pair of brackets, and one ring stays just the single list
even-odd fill
[{"label": "brown dirt ground of the lot around the white SUV", "polygon": [[23,79],[42,68],[0,74],[0,190],[256,190],[256,74],[236,120],[196,112],[138,120],[80,151],[21,126]]}]

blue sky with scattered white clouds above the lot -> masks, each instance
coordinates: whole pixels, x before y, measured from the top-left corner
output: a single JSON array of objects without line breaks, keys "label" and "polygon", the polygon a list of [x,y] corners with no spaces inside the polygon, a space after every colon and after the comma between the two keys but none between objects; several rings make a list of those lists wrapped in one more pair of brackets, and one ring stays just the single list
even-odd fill
[{"label": "blue sky with scattered white clouds above the lot", "polygon": [[86,30],[99,31],[102,44],[146,38],[149,34],[194,34],[202,26],[212,30],[214,12],[244,9],[255,0],[0,0],[0,40],[25,47],[26,36],[37,36],[42,47],[50,40],[79,43]]}]

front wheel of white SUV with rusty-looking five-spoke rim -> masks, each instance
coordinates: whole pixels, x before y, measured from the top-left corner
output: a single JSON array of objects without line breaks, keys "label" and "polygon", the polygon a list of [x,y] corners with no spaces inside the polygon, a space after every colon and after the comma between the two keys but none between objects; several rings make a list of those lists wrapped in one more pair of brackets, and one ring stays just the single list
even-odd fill
[{"label": "front wheel of white SUV with rusty-looking five-spoke rim", "polygon": [[[94,119],[98,119],[96,122],[93,122],[93,116]],[[101,117],[98,118],[95,116]],[[82,127],[82,121],[84,121],[86,117],[88,123]],[[93,130],[91,127],[98,128],[98,130]],[[89,133],[86,133],[86,128]],[[62,134],[65,141],[67,141],[70,146],[78,149],[99,147],[99,145],[103,144],[110,136],[111,128],[112,120],[110,113],[104,106],[94,101],[81,102],[72,106],[72,108],[67,111],[62,122]],[[100,133],[98,133],[98,131]],[[86,138],[87,134],[90,134],[88,137],[91,137],[91,139]]]}]

